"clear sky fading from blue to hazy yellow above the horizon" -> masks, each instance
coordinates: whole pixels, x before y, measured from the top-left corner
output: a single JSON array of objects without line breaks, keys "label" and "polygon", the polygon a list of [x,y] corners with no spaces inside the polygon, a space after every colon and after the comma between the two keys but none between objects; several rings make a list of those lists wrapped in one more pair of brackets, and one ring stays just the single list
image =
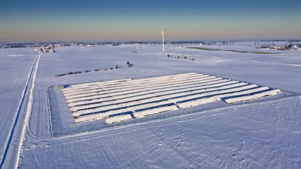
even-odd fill
[{"label": "clear sky fading from blue to hazy yellow above the horizon", "polygon": [[6,0],[0,42],[301,39],[301,0]]}]

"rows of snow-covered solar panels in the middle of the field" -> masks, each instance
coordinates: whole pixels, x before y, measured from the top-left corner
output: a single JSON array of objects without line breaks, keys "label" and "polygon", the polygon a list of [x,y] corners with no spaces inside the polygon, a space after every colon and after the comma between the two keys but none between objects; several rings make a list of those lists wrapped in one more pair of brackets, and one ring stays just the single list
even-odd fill
[{"label": "rows of snow-covered solar panels in the middle of the field", "polygon": [[199,73],[77,84],[62,91],[76,123],[105,118],[107,124],[216,100],[235,103],[281,92]]}]

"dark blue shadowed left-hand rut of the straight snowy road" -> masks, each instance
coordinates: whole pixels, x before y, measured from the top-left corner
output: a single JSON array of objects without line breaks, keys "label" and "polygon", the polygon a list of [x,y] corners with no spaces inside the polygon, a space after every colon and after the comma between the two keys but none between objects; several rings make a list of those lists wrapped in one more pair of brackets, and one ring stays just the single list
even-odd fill
[{"label": "dark blue shadowed left-hand rut of the straight snowy road", "polygon": [[26,91],[27,91],[27,88],[28,88],[28,84],[30,82],[30,79],[31,79],[31,76],[32,76],[32,73],[33,73],[33,70],[35,68],[35,65],[37,63],[37,60],[39,59],[40,57],[40,54],[38,54],[36,56],[36,60],[34,61],[34,64],[32,65],[32,68],[31,68],[31,71],[29,73],[29,76],[28,76],[28,80],[26,82],[26,85],[24,87],[24,90],[22,92],[22,97],[21,97],[21,100],[20,100],[20,103],[19,103],[19,107],[17,109],[17,114],[15,115],[15,120],[13,122],[13,125],[10,129],[10,132],[9,132],[9,135],[7,136],[7,141],[6,141],[6,144],[4,145],[5,148],[4,148],[4,153],[3,153],[3,156],[2,156],[2,159],[1,159],[1,162],[0,162],[0,168],[3,167],[4,165],[4,161],[6,159],[6,156],[7,156],[7,152],[8,152],[8,149],[9,149],[9,146],[10,146],[10,143],[12,141],[12,136],[14,134],[14,131],[15,131],[15,127],[17,125],[17,122],[18,122],[18,119],[19,119],[19,116],[20,116],[20,112],[21,112],[21,109],[22,109],[22,106],[23,106],[23,103],[24,103],[24,100],[25,100],[25,95],[26,95]]}]

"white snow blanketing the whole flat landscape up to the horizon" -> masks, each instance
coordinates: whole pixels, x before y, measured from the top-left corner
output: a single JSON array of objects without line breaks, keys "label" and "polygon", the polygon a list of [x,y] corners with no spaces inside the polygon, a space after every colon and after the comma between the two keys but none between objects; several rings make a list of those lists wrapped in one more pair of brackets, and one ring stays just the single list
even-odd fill
[{"label": "white snow blanketing the whole flat landscape up to the horizon", "polygon": [[[202,47],[261,51],[240,46]],[[301,168],[299,50],[250,54],[167,45],[163,55],[161,46],[121,45],[61,47],[56,48],[56,53],[43,53],[40,57],[32,50],[0,49],[0,168]],[[16,52],[18,55],[14,55]],[[183,58],[183,53],[195,61],[167,58],[167,54]],[[127,61],[133,67],[127,68]],[[120,68],[94,71],[115,65]],[[93,72],[55,77],[85,70]],[[154,77],[179,74],[192,76],[184,78],[185,85],[193,89],[177,88],[176,84],[182,83],[178,77],[170,82],[152,82]],[[114,84],[119,80],[127,85],[110,86],[119,94],[101,93],[103,88],[108,90],[104,87],[108,81]],[[152,83],[142,85],[145,80]],[[219,88],[208,93],[220,94],[218,98],[223,99],[206,97],[208,100],[203,101],[211,102],[205,104],[194,100],[195,93],[206,94],[209,88],[196,85],[198,81],[209,83],[211,89]],[[213,82],[223,85],[214,86]],[[89,83],[94,83],[89,88],[91,93],[98,94],[86,95],[83,88]],[[71,86],[63,91],[57,88],[64,84]],[[140,90],[145,87],[153,93]],[[179,93],[162,90],[165,87]],[[130,94],[127,89],[136,91]],[[245,93],[248,90],[254,94]],[[229,97],[226,91],[240,97]],[[121,106],[133,114],[99,117],[118,114],[120,109],[116,109],[74,119],[73,114],[91,111],[92,101],[104,106],[104,98],[98,97],[100,93],[108,94],[104,98],[113,98],[105,100],[110,106],[122,101]],[[184,99],[179,97],[183,93],[192,102],[177,103]],[[263,97],[266,95],[270,96]],[[91,98],[82,100],[84,97]],[[176,104],[144,109],[147,104],[168,105],[170,98]],[[146,99],[151,103],[143,102]],[[158,99],[162,102],[155,102]],[[134,100],[144,104],[131,106]],[[79,107],[87,110],[78,110]],[[76,123],[81,118],[85,122]]]}]

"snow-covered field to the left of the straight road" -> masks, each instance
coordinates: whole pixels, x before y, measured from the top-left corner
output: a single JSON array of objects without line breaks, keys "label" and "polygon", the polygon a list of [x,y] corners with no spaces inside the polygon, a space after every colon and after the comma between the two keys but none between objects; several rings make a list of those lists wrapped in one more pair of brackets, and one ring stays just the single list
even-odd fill
[{"label": "snow-covered field to the left of the straight road", "polygon": [[[17,55],[16,55],[17,53]],[[35,60],[35,54],[28,48],[0,50],[0,157],[10,142],[13,124],[22,118],[24,102],[27,101],[26,88],[29,83],[29,74]]]}]

